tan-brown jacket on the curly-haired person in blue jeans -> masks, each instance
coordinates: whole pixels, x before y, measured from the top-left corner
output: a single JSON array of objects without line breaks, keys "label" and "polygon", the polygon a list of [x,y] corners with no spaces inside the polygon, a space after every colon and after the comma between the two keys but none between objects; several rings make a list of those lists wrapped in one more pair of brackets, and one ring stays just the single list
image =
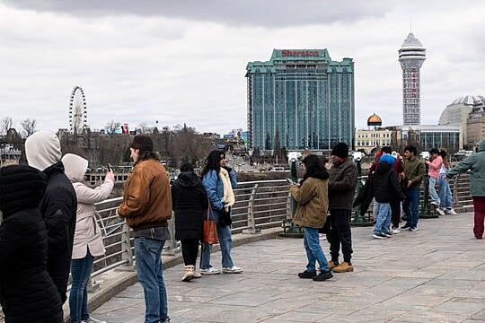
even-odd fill
[{"label": "tan-brown jacket on the curly-haired person in blue jeans", "polygon": [[322,228],[329,208],[328,183],[328,179],[308,178],[301,187],[294,185],[290,188],[291,195],[298,203],[293,223]]}]

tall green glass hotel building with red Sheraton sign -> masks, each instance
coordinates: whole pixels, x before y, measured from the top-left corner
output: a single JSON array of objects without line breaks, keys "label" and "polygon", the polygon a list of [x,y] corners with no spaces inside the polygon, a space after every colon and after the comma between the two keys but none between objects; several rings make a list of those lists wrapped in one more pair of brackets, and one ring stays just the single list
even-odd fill
[{"label": "tall green glass hotel building with red Sheraton sign", "polygon": [[274,49],[246,66],[252,148],[329,150],[354,147],[354,62],[327,49]]}]

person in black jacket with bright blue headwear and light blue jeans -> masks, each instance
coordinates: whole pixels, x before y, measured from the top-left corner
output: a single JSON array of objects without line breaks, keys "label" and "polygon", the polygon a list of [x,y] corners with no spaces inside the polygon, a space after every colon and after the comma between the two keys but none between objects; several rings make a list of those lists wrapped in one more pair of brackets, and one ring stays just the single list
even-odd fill
[{"label": "person in black jacket with bright blue headwear and light blue jeans", "polygon": [[375,216],[374,234],[375,239],[387,239],[391,237],[391,202],[403,200],[406,196],[402,193],[398,174],[392,170],[395,158],[384,154],[379,159],[375,173],[370,178],[369,194],[375,197],[377,210]]}]

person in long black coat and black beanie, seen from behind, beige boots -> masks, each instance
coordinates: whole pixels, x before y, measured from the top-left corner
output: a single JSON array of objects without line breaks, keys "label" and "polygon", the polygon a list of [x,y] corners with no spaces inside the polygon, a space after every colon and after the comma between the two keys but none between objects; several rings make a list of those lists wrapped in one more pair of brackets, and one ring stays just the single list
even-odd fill
[{"label": "person in long black coat and black beanie, seen from behind, beige boots", "polygon": [[181,174],[172,185],[172,207],[175,211],[175,239],[181,240],[185,275],[182,282],[199,278],[195,271],[198,244],[202,238],[204,211],[208,200],[206,188],[190,163],[181,165]]}]

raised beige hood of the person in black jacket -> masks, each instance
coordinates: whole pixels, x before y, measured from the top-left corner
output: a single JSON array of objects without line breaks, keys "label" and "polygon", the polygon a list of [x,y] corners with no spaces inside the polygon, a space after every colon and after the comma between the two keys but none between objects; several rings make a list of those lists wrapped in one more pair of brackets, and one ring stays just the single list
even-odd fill
[{"label": "raised beige hood of the person in black jacket", "polygon": [[59,138],[52,131],[38,131],[25,140],[25,155],[29,166],[45,170],[56,162],[60,162]]}]

